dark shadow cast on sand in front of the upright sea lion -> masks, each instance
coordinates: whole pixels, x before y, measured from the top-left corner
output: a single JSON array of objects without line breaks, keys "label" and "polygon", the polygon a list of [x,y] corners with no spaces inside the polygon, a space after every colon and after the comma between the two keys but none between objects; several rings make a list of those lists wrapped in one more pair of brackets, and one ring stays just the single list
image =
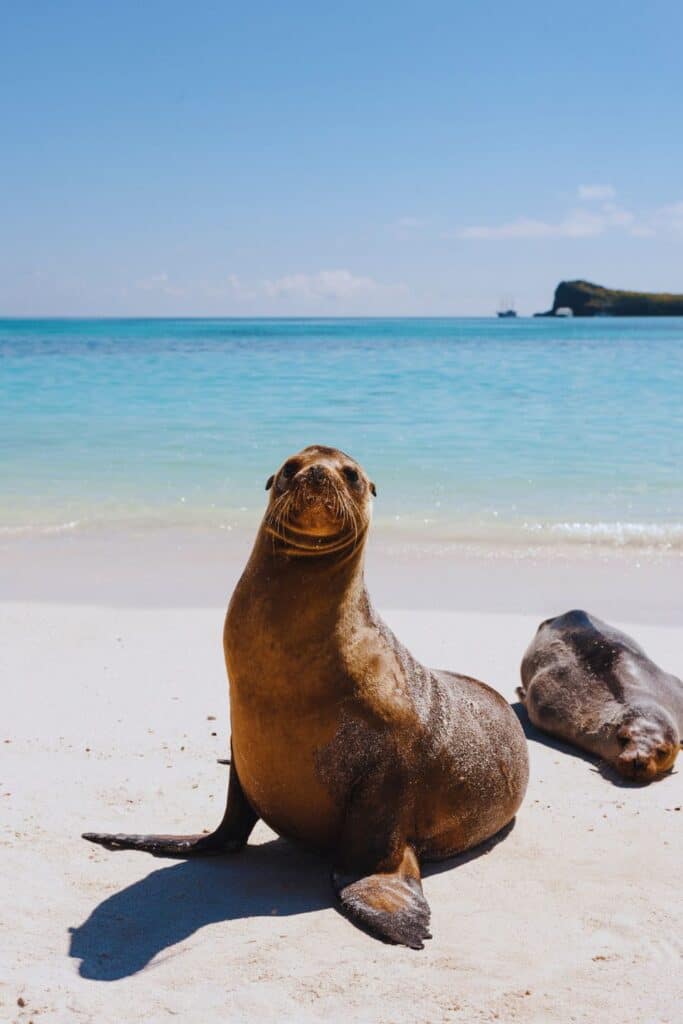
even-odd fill
[{"label": "dark shadow cast on sand in front of the upright sea lion", "polygon": [[285,840],[272,840],[239,854],[183,860],[152,871],[70,929],[69,955],[81,961],[82,978],[119,981],[207,925],[308,913],[331,902],[326,862]]}]

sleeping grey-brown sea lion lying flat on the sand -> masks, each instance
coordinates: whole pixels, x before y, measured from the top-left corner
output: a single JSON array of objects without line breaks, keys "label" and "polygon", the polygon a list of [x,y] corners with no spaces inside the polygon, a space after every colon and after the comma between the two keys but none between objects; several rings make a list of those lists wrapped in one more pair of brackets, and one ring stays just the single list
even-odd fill
[{"label": "sleeping grey-brown sea lion lying flat on the sand", "polygon": [[635,640],[588,611],[542,623],[517,693],[533,725],[650,782],[670,771],[683,734],[683,682]]}]

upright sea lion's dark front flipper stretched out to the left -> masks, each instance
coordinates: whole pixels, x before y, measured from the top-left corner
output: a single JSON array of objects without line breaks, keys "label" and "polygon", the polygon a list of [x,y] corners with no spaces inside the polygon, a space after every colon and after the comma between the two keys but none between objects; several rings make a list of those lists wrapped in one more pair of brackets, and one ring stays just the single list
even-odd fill
[{"label": "upright sea lion's dark front flipper stretched out to the left", "polygon": [[230,765],[225,813],[215,831],[200,836],[131,836],[83,833],[106,850],[142,850],[155,857],[207,857],[233,853],[246,845],[258,814],[245,797],[234,763]]}]

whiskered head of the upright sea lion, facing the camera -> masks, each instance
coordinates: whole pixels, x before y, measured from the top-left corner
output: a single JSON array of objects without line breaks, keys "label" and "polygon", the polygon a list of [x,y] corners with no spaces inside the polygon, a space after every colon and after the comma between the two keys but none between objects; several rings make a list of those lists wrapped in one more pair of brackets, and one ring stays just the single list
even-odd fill
[{"label": "whiskered head of the upright sea lion, facing the camera", "polygon": [[286,459],[265,488],[265,529],[288,554],[329,554],[365,541],[377,490],[344,452],[311,444]]}]

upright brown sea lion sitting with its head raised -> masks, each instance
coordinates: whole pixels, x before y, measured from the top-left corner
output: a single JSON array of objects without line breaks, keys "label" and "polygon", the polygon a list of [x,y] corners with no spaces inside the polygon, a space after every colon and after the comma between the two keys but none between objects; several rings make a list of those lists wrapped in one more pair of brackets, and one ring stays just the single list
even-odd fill
[{"label": "upright brown sea lion sitting with its head raised", "polygon": [[375,485],[312,445],[270,497],[227,610],[231,765],[210,836],[85,839],[160,856],[243,847],[260,817],[326,851],[343,910],[416,949],[429,936],[420,863],[511,821],[526,788],[522,729],[484,683],[423,668],[373,609],[364,555]]}]

